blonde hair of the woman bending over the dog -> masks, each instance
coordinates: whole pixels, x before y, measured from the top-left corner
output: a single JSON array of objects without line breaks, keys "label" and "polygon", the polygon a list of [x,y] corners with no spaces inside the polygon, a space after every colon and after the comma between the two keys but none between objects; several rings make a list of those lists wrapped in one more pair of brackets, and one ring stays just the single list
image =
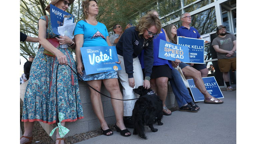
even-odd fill
[{"label": "blonde hair of the woman bending over the dog", "polygon": [[150,28],[151,26],[156,26],[157,34],[159,34],[162,29],[161,25],[161,21],[156,15],[147,14],[141,17],[135,30],[139,31],[139,36],[141,36],[142,34],[144,34],[144,30]]}]

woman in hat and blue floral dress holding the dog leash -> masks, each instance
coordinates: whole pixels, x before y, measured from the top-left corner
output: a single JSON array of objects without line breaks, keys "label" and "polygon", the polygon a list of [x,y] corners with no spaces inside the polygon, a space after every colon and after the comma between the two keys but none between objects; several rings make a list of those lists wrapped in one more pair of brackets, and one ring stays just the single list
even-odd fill
[{"label": "woman in hat and blue floral dress holding the dog leash", "polygon": [[[69,3],[68,3],[69,2]],[[66,10],[74,0],[52,0],[51,4]],[[45,8],[49,12],[49,5]],[[56,122],[56,71],[57,76],[57,104],[58,112],[64,114],[61,125],[65,122],[73,122],[83,118],[83,110],[81,106],[79,87],[77,76],[67,66],[71,66],[76,71],[75,61],[68,48],[55,48],[46,38],[56,38],[60,45],[72,45],[73,42],[67,36],[59,36],[53,33],[50,24],[50,16],[48,16],[48,28],[45,16],[38,20],[38,37],[41,47],[32,63],[30,70],[30,78],[26,88],[23,104],[22,122],[24,122],[24,135],[20,139],[21,144],[32,143],[32,130],[35,121],[41,121],[48,124]],[[50,30],[50,31],[49,31]],[[55,56],[45,55],[44,49],[55,54]],[[60,139],[57,128],[56,143],[64,143],[64,138]]]}]

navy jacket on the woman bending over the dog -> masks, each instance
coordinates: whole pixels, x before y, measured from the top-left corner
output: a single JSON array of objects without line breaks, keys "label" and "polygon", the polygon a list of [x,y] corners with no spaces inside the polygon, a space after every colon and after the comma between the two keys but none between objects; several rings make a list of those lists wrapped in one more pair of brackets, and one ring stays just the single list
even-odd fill
[{"label": "navy jacket on the woman bending over the dog", "polygon": [[124,57],[125,72],[128,74],[128,78],[133,78],[133,58],[136,58],[143,49],[144,52],[144,65],[145,76],[149,76],[152,73],[152,67],[154,62],[153,57],[153,40],[149,38],[144,44],[144,38],[139,36],[139,31],[134,27],[126,29],[121,35],[118,43],[116,44],[117,54]]}]

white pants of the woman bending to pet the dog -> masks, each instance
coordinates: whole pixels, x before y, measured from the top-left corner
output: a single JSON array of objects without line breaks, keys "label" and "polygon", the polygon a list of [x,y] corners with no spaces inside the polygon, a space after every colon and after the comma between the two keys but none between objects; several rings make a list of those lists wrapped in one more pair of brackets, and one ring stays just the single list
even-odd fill
[{"label": "white pants of the woman bending to pet the dog", "polygon": [[[133,77],[135,81],[134,88],[130,87],[129,80],[128,80],[128,74],[125,72],[125,66],[124,66],[124,58],[123,56],[118,54],[118,59],[121,61],[121,68],[122,70],[118,70],[118,76],[119,80],[123,86],[123,98],[125,99],[134,99],[138,98],[139,95],[133,92],[134,88],[138,88],[139,86],[143,85],[143,73],[140,65],[139,58],[136,57],[133,59]],[[124,116],[132,116],[132,110],[134,108],[136,100],[129,100],[124,101]]]}]

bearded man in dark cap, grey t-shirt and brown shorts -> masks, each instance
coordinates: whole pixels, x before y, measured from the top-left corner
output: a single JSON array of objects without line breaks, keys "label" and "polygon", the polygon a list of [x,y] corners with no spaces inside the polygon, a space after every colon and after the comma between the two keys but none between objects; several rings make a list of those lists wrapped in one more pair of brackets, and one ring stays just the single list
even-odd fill
[{"label": "bearded man in dark cap, grey t-shirt and brown shorts", "polygon": [[218,26],[216,31],[218,36],[213,39],[212,46],[217,52],[218,65],[220,72],[223,73],[227,91],[232,91],[228,72],[230,69],[236,71],[236,37],[233,34],[227,34],[226,27],[223,25]]}]

